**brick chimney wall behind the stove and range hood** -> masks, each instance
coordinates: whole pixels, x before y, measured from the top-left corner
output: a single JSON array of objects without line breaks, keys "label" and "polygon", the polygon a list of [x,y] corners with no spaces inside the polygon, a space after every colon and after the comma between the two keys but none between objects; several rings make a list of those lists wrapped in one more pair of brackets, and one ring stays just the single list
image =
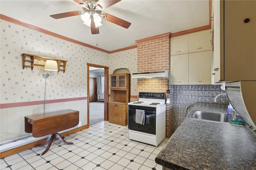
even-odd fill
[{"label": "brick chimney wall behind the stove and range hood", "polygon": [[[169,71],[170,70],[170,37],[163,34],[156,38],[138,40],[138,72]],[[138,79],[139,92],[166,93],[169,79]],[[171,86],[170,86],[171,87]],[[170,103],[166,104],[166,137],[172,134],[172,94]]]}]

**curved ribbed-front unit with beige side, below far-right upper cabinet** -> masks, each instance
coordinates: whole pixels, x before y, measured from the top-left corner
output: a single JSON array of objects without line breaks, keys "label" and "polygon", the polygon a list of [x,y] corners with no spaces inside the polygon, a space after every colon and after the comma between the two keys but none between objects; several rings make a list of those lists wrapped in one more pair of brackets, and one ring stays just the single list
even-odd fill
[{"label": "curved ribbed-front unit with beige side, below far-right upper cabinet", "polygon": [[236,112],[256,129],[256,81],[226,83],[225,89]]}]

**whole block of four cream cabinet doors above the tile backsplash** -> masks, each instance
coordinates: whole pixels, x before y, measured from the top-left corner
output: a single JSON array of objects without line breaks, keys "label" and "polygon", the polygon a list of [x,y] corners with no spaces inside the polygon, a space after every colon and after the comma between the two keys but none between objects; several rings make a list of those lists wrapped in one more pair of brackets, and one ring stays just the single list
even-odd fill
[{"label": "whole block of four cream cabinet doors above the tile backsplash", "polygon": [[[187,53],[172,55],[177,54],[176,50],[182,44],[186,44],[187,49],[183,51]],[[210,85],[211,56],[211,30],[171,38],[170,84]]]}]

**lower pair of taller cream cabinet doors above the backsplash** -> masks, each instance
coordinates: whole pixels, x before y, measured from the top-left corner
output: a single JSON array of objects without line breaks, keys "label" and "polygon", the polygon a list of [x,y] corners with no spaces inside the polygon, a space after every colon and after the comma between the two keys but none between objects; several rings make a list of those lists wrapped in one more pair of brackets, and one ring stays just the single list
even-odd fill
[{"label": "lower pair of taller cream cabinet doors above the backsplash", "polygon": [[172,55],[171,85],[210,85],[211,51]]}]

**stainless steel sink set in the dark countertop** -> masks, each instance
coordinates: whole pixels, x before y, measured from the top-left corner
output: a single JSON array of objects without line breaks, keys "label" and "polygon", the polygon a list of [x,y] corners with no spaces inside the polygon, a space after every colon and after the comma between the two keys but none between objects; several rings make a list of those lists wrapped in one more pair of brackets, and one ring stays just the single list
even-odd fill
[{"label": "stainless steel sink set in the dark countertop", "polygon": [[218,112],[207,112],[207,111],[192,111],[189,115],[189,118],[200,119],[204,121],[215,121],[229,123],[230,118],[226,113]]}]

